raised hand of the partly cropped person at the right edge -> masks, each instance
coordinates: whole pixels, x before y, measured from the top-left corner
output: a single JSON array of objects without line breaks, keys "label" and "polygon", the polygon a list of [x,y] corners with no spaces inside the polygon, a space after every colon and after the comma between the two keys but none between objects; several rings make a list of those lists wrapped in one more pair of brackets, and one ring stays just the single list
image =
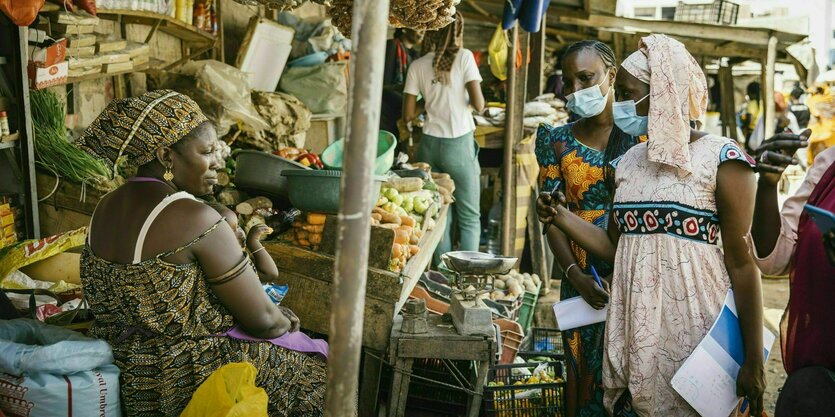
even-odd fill
[{"label": "raised hand of the partly cropped person at the right edge", "polygon": [[809,129],[804,130],[799,135],[780,133],[763,142],[762,146],[754,151],[760,181],[769,185],[777,185],[786,167],[800,163],[794,154],[797,153],[799,148],[808,146],[808,139],[811,134],[812,131]]}]

